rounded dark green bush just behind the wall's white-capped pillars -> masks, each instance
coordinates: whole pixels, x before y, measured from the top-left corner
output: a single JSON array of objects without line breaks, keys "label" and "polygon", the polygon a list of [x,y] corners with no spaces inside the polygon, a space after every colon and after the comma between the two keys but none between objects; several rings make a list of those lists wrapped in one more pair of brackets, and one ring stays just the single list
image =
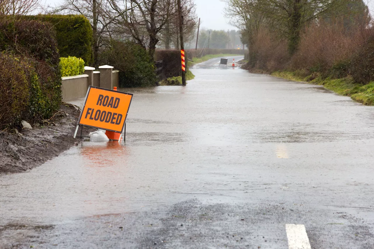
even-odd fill
[{"label": "rounded dark green bush just behind the wall's white-capped pillars", "polygon": [[153,60],[134,42],[112,40],[110,47],[101,53],[99,62],[120,71],[120,87],[147,87],[157,82]]}]

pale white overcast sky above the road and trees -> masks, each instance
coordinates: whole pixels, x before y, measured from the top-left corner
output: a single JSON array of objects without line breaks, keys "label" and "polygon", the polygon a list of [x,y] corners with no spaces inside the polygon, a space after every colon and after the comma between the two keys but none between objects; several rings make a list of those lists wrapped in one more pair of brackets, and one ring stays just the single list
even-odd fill
[{"label": "pale white overcast sky above the road and trees", "polygon": [[[63,0],[42,0],[51,6],[59,5]],[[225,3],[220,0],[194,0],[196,4],[197,16],[201,18],[200,27],[212,30],[232,30],[236,29],[227,24],[228,20],[224,18]]]}]

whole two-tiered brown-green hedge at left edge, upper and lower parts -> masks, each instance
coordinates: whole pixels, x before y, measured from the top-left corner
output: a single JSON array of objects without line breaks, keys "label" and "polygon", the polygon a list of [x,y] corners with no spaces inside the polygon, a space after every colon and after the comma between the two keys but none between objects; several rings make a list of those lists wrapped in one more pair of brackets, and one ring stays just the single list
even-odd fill
[{"label": "whole two-tiered brown-green hedge at left edge, upper and lower parts", "polygon": [[61,72],[52,24],[0,18],[0,127],[59,110]]}]

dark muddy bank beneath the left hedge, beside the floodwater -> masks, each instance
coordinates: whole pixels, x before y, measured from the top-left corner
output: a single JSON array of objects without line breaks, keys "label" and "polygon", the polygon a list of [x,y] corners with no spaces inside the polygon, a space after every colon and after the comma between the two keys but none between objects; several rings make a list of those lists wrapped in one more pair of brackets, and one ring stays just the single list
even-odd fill
[{"label": "dark muddy bank beneath the left hedge, beside the floodwater", "polygon": [[[61,105],[49,122],[31,124],[32,129],[0,131],[0,175],[25,172],[58,156],[62,151],[82,141],[73,138],[80,110],[73,105]],[[83,136],[96,129],[85,127]],[[80,134],[80,129],[79,133]]]}]

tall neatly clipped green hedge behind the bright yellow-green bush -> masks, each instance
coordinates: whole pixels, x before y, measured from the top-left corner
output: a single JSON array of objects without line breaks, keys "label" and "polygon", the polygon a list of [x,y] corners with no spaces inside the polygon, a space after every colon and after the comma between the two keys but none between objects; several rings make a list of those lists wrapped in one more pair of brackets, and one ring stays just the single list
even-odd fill
[{"label": "tall neatly clipped green hedge behind the bright yellow-green bush", "polygon": [[56,30],[57,46],[61,57],[82,58],[92,64],[92,28],[83,15],[36,15],[24,16],[26,20],[50,22]]}]

